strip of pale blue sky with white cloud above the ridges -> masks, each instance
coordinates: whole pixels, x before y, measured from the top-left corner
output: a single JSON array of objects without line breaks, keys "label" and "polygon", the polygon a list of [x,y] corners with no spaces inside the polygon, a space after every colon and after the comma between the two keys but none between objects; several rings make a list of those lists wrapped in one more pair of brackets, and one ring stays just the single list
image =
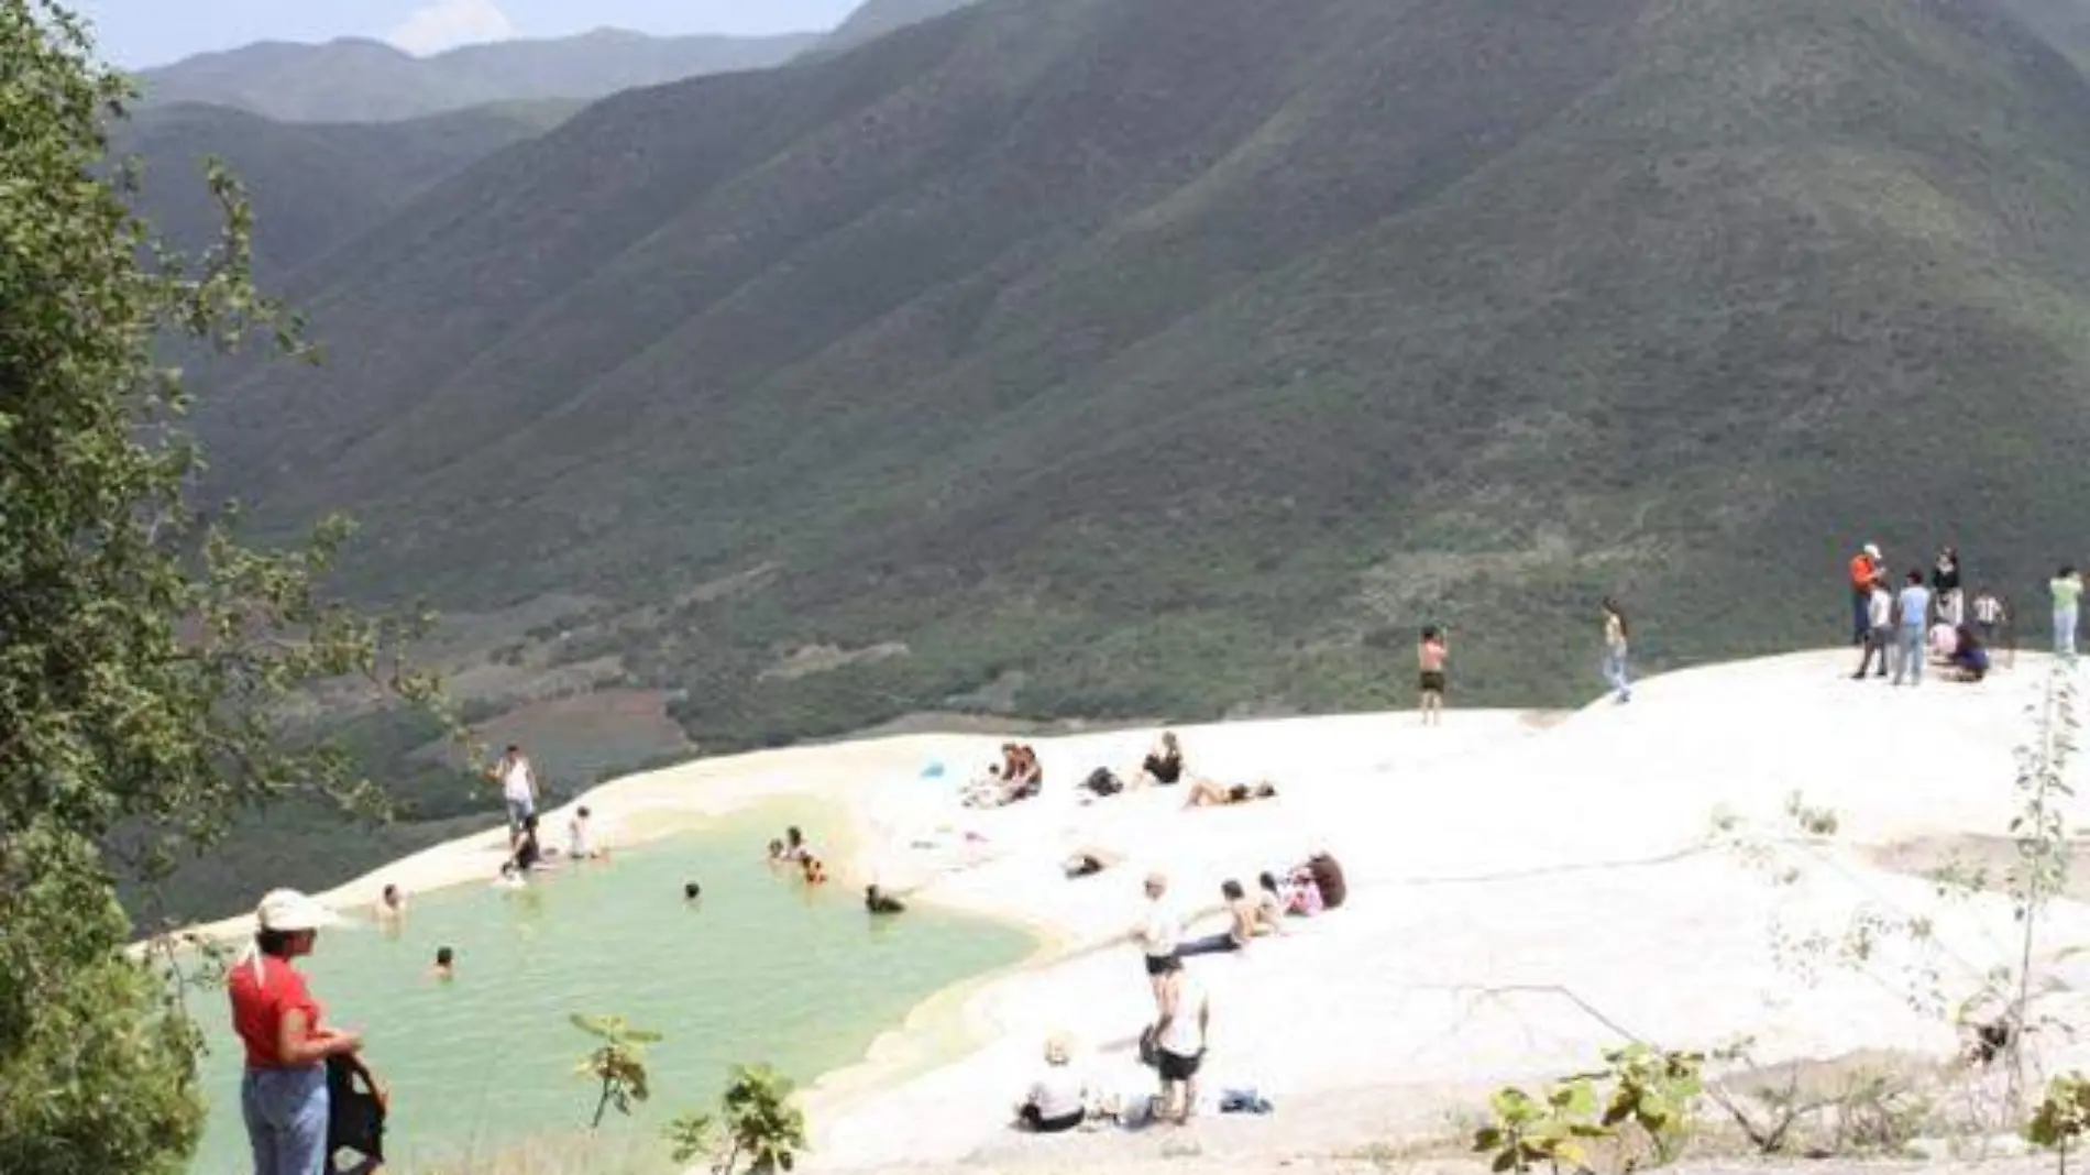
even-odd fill
[{"label": "strip of pale blue sky with white cloud above the ridges", "polygon": [[69,0],[94,23],[104,59],[167,65],[257,40],[374,38],[428,54],[506,38],[556,38],[604,25],[642,33],[830,29],[859,0]]}]

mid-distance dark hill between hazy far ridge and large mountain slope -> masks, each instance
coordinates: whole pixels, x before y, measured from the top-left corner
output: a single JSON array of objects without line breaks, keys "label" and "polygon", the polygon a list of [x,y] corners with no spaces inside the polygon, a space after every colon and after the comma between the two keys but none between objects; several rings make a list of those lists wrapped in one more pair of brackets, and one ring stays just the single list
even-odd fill
[{"label": "mid-distance dark hill between hazy far ridge and large mountain slope", "polygon": [[510,102],[395,123],[278,123],[230,107],[148,107],[111,128],[111,151],[140,159],[138,211],[190,253],[224,222],[203,176],[205,159],[224,159],[255,211],[255,272],[274,282],[573,109]]}]

